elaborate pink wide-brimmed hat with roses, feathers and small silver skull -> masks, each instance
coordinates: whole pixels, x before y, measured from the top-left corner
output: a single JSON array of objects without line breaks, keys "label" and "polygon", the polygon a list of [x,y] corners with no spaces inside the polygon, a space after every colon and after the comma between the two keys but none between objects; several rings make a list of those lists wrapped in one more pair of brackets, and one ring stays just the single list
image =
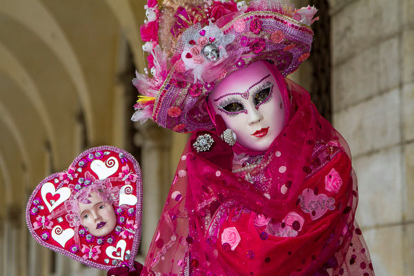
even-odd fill
[{"label": "elaborate pink wide-brimmed hat with roses, feathers and small silver skull", "polygon": [[[152,77],[133,79],[141,95],[133,121],[177,132],[209,130],[206,97],[231,72],[265,59],[286,76],[309,57],[313,7],[282,0],[148,0],[141,38]],[[146,73],[148,74],[146,68]]]}]

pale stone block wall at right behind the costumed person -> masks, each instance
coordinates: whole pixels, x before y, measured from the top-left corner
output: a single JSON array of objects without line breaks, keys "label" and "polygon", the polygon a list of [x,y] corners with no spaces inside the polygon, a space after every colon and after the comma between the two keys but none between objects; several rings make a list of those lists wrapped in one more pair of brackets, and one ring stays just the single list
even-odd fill
[{"label": "pale stone block wall at right behind the costumed person", "polygon": [[414,1],[330,4],[333,124],[353,154],[357,221],[377,276],[414,275]]}]

